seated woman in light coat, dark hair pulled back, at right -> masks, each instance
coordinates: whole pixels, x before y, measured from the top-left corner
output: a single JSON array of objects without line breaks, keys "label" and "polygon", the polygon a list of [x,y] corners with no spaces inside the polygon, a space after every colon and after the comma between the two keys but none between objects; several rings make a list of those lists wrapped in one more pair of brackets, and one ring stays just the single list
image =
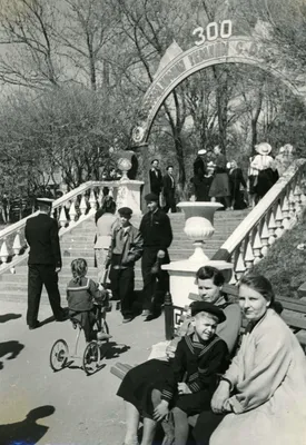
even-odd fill
[{"label": "seated woman in light coat, dark hair pulled back, at right", "polygon": [[214,413],[198,418],[197,443],[208,444],[207,424],[211,427],[221,421],[209,445],[305,445],[304,352],[274,310],[274,293],[265,277],[241,279],[239,305],[249,324],[213,396]]}]

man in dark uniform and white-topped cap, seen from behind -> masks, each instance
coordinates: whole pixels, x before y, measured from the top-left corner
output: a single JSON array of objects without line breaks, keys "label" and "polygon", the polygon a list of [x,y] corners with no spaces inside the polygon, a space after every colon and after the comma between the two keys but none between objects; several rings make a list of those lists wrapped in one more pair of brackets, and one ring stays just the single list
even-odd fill
[{"label": "man in dark uniform and white-topped cap, seen from behind", "polygon": [[65,313],[60,305],[58,273],[61,269],[61,255],[57,220],[50,217],[52,199],[37,199],[39,215],[26,224],[26,239],[30,246],[28,259],[28,312],[29,329],[39,326],[38,310],[42,285],[45,285],[56,320],[62,322]]}]

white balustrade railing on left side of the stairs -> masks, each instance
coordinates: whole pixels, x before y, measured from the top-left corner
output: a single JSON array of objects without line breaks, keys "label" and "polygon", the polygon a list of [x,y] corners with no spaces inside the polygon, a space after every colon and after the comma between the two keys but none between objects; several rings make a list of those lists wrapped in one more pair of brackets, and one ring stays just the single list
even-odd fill
[{"label": "white balustrade railing on left side of the stairs", "polygon": [[[131,182],[134,187],[134,182],[136,181],[129,182]],[[103,187],[109,189],[109,195],[111,195],[116,201],[120,201],[120,195],[122,195],[120,189],[122,187],[125,189],[127,182],[88,181],[55,200],[51,215],[59,222],[59,236],[71,230],[96,212],[98,205],[102,201]],[[23,260],[24,256],[27,256],[27,241],[24,238],[26,221],[37,214],[38,211],[0,230],[0,274],[8,268],[12,268],[13,271],[13,266]]]}]

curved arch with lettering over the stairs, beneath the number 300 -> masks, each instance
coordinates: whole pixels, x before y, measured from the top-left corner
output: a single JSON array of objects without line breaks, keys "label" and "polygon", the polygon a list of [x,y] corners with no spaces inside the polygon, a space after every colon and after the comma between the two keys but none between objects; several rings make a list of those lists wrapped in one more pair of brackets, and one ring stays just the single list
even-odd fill
[{"label": "curved arch with lettering over the stairs, beneath the number 300", "polygon": [[214,37],[203,44],[180,52],[157,73],[144,97],[138,122],[132,129],[132,145],[147,145],[158,110],[180,82],[199,70],[221,63],[246,63],[260,68],[278,78],[295,96],[305,100],[305,78],[282,65],[276,48],[246,36]]}]

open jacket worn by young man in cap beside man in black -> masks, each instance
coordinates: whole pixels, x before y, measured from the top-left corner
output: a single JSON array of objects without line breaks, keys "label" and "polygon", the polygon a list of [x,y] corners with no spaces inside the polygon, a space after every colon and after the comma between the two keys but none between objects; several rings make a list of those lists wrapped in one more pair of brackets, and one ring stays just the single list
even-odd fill
[{"label": "open jacket worn by young man in cap beside man in black", "polygon": [[[116,237],[120,226],[116,226],[112,230],[110,247],[108,249],[107,265],[111,263],[113,248],[116,247]],[[141,257],[144,251],[144,239],[140,231],[130,225],[125,235],[125,247],[121,257],[121,268],[134,267],[135,263]]]}]

